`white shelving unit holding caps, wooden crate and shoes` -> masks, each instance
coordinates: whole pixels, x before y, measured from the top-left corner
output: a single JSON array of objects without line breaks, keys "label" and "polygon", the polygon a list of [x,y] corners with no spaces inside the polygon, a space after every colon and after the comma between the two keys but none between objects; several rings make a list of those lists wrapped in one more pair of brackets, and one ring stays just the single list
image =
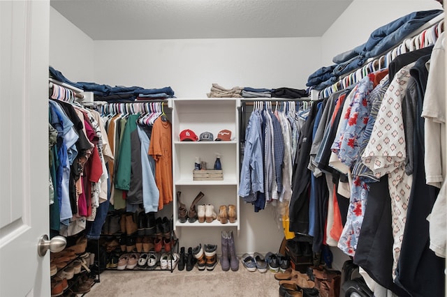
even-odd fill
[{"label": "white shelving unit holding caps, wooden crate and shoes", "polygon": [[[240,101],[237,98],[173,98],[169,101],[173,124],[173,227],[177,236],[181,236],[184,228],[236,227],[237,231],[240,229],[237,195],[239,106]],[[210,132],[213,140],[182,142],[179,135],[186,129],[192,130],[198,137],[203,132]],[[221,130],[230,130],[231,139],[214,141]],[[214,169],[217,155],[220,156],[221,172],[194,170],[197,158],[200,159],[202,167]],[[187,220],[186,217],[185,221],[184,211],[190,214],[191,204],[196,206],[198,219]],[[205,220],[203,205],[205,205]],[[180,206],[184,206],[184,210],[180,211],[179,215]],[[210,206],[214,209],[210,209]],[[230,218],[228,218],[228,207],[230,207]],[[223,220],[219,220],[219,215],[223,216]]]}]

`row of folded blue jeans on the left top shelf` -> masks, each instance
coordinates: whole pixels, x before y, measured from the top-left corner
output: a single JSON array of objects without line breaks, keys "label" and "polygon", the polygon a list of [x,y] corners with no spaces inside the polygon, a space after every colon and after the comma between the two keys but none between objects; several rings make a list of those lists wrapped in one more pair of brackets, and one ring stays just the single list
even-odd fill
[{"label": "row of folded blue jeans on the left top shelf", "polygon": [[71,82],[64,75],[50,66],[50,77],[75,86],[84,91],[91,91],[95,101],[123,102],[134,100],[163,100],[174,98],[174,91],[170,86],[161,89],[145,89],[141,86],[109,86],[95,82]]}]

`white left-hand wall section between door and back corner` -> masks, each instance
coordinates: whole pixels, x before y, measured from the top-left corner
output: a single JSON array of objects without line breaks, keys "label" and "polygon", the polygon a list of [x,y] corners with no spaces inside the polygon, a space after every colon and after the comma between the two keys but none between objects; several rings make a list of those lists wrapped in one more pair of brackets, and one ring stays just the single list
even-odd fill
[{"label": "white left-hand wall section between door and back corner", "polygon": [[94,42],[50,7],[50,66],[72,82],[94,82]]}]

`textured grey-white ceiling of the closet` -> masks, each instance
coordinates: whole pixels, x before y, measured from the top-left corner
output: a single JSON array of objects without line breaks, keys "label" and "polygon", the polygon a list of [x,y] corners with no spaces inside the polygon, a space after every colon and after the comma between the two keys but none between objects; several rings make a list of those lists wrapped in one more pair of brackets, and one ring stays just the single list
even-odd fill
[{"label": "textured grey-white ceiling of the closet", "polygon": [[322,36],[353,0],[51,0],[93,40]]}]

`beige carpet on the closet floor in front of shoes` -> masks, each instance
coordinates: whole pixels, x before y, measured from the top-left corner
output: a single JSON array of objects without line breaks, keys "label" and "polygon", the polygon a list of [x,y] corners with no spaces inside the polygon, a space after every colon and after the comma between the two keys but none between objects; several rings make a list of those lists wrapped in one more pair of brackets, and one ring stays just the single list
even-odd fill
[{"label": "beige carpet on the closet floor in front of shoes", "polygon": [[104,271],[87,297],[121,296],[279,296],[274,273],[249,272],[240,264],[239,271]]}]

